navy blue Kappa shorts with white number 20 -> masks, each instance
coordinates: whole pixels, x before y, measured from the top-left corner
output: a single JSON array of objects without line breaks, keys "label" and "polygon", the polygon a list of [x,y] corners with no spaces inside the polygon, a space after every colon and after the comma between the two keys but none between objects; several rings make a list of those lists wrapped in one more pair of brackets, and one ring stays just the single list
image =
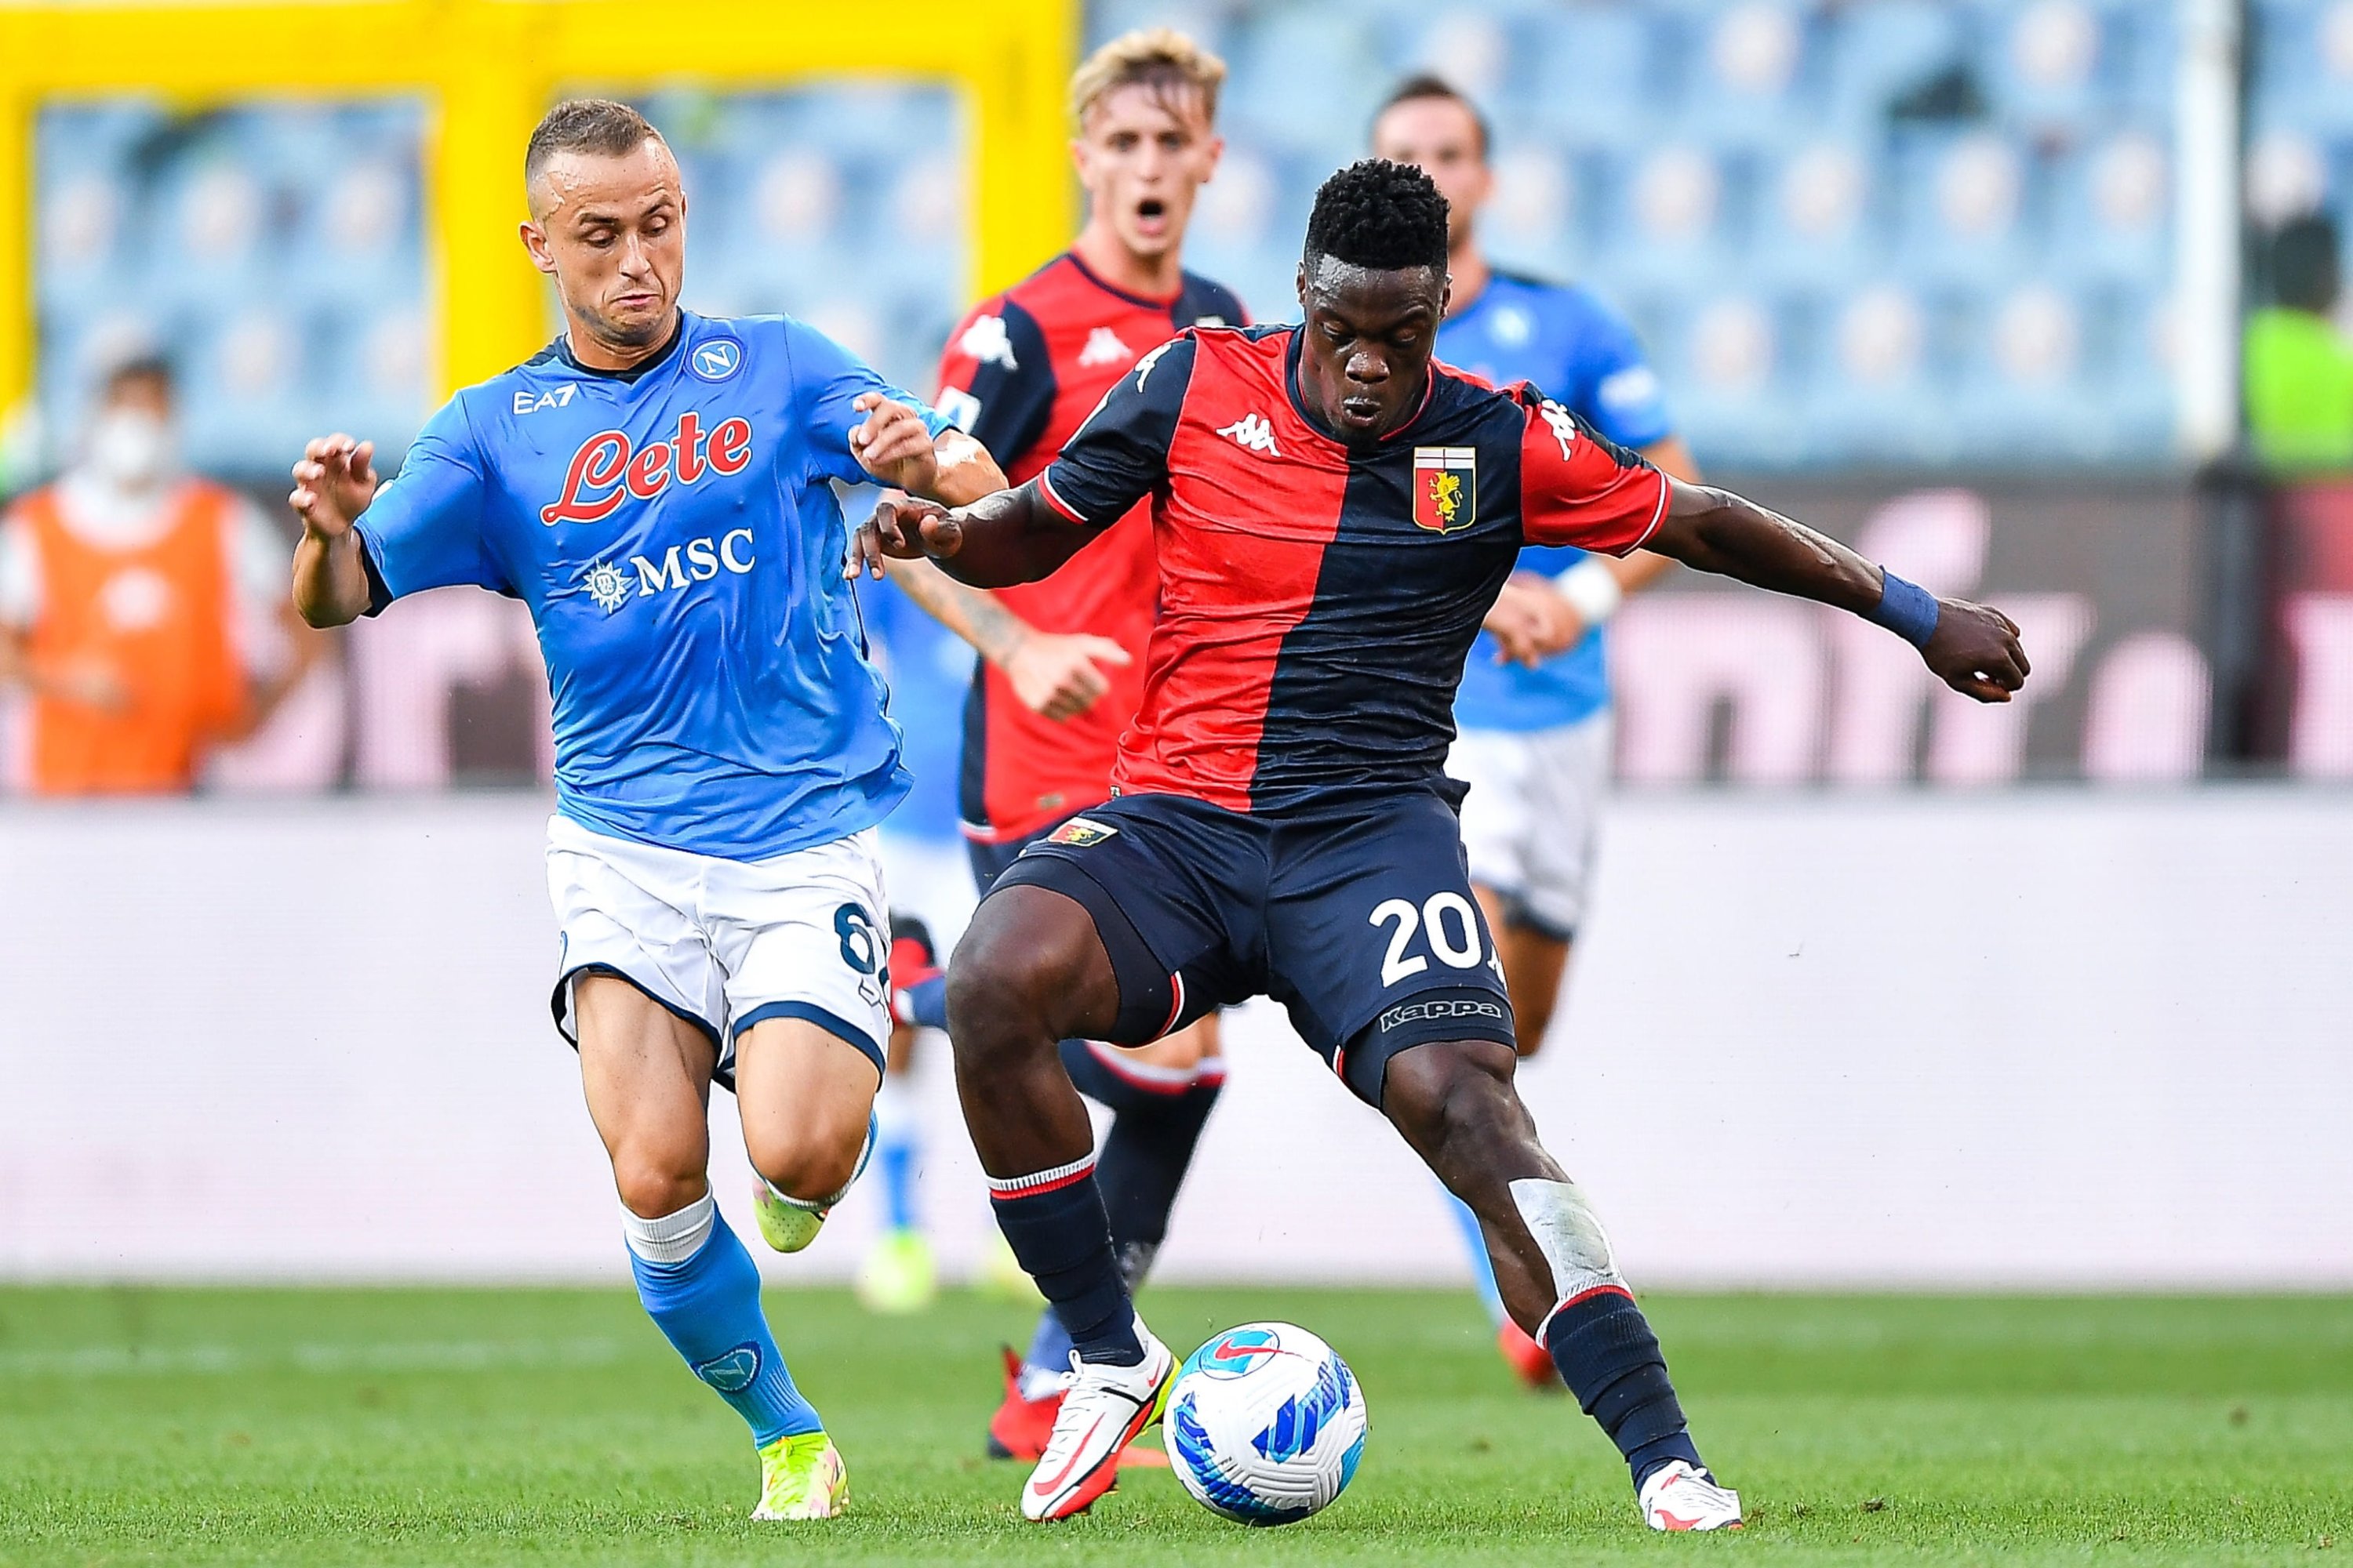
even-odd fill
[{"label": "navy blue Kappa shorts with white number 20", "polygon": [[1120,980],[1120,1046],[1266,994],[1379,1107],[1400,1051],[1515,1044],[1454,811],[1426,790],[1282,818],[1125,795],[1033,839],[993,893],[1009,886],[1094,917]]}]

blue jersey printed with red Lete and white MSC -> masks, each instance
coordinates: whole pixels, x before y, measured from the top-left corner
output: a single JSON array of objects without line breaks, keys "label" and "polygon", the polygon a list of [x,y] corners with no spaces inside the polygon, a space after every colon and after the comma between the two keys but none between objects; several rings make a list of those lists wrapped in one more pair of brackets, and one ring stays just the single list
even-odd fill
[{"label": "blue jersey printed with red Lete and white MSC", "polygon": [[908,776],[842,581],[859,393],[946,430],[791,317],[687,313],[626,374],[558,341],[442,404],[360,517],[369,614],[452,583],[522,599],[584,827],[729,860],[871,827]]}]

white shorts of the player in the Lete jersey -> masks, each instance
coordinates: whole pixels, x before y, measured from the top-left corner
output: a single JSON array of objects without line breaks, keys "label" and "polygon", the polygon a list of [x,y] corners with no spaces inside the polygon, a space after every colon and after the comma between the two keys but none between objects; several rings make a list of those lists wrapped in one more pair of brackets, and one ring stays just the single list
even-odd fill
[{"label": "white shorts of the player in the Lete jersey", "polygon": [[873,827],[772,860],[720,860],[548,818],[548,898],[562,947],[555,1027],[576,1048],[572,983],[621,976],[718,1046],[767,1018],[802,1018],[882,1070],[889,903]]}]

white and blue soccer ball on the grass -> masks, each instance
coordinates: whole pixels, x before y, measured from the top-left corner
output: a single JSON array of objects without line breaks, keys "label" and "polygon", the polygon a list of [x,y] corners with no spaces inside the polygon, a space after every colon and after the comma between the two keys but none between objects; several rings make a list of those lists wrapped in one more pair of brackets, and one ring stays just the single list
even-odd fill
[{"label": "white and blue soccer ball on the grass", "polygon": [[1365,1394],[1306,1328],[1242,1324],[1186,1356],[1162,1432],[1202,1507],[1294,1523],[1339,1497],[1365,1458]]}]

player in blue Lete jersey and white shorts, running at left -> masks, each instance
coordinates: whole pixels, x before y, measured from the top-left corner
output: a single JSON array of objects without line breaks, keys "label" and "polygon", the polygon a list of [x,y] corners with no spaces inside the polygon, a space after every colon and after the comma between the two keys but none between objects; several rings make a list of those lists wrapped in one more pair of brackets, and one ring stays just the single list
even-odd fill
[{"label": "player in blue Lete jersey and white shorts, running at left", "polygon": [[875,823],[908,788],[833,482],[974,501],[1005,477],[824,334],[680,310],[687,195],[633,108],[548,110],[525,186],[562,336],[442,404],[384,487],[367,442],[311,442],[294,604],[344,625],[473,583],[529,607],[555,696],[555,1027],[638,1295],[751,1425],[753,1516],[824,1519],[847,1476],[711,1201],[706,1105],[713,1079],[736,1093],[760,1232],[807,1246],[873,1135]]}]

